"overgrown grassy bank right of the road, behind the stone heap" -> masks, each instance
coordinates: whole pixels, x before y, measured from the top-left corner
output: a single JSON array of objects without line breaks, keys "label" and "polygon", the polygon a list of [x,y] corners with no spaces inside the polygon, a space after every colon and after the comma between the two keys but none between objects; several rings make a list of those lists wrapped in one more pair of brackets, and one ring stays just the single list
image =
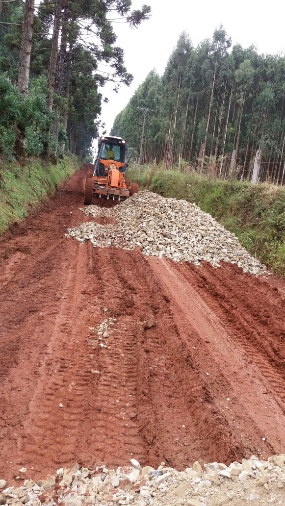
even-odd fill
[{"label": "overgrown grassy bank right of the road, behind the stone heap", "polygon": [[233,232],[251,255],[285,276],[285,188],[136,165],[127,177],[164,197],[195,202]]}]

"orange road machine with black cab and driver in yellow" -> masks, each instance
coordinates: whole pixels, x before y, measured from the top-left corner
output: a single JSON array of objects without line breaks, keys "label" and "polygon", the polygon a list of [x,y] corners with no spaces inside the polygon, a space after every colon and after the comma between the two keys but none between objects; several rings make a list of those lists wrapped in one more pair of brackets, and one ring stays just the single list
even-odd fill
[{"label": "orange road machine with black cab and driver in yellow", "polygon": [[90,205],[95,197],[125,200],[139,191],[139,185],[125,179],[125,172],[132,158],[131,150],[126,160],[128,144],[125,139],[114,136],[101,136],[98,141],[98,154],[94,172],[87,178],[84,203]]}]

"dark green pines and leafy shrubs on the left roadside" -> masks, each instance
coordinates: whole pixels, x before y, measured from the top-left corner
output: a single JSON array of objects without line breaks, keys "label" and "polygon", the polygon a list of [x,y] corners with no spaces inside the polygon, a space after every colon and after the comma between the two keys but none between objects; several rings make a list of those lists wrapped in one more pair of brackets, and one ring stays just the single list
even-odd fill
[{"label": "dark green pines and leafy shrubs on the left roadside", "polygon": [[99,88],[133,78],[113,23],[149,15],[131,0],[0,0],[0,156],[88,157],[107,101]]}]

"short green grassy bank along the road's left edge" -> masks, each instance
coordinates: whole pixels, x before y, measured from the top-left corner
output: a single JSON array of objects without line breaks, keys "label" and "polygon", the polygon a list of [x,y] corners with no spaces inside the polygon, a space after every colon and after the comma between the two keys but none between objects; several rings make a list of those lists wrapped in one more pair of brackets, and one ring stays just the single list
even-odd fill
[{"label": "short green grassy bank along the road's left edge", "polygon": [[56,165],[32,158],[24,167],[0,160],[0,235],[12,223],[26,218],[81,164],[75,156],[66,156]]}]

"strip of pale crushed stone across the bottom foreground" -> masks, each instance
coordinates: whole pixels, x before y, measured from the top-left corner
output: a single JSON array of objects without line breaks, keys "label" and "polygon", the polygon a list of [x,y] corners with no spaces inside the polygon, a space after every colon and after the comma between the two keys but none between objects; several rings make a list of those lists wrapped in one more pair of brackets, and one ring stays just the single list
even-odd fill
[{"label": "strip of pale crushed stone across the bottom foreground", "polygon": [[[20,473],[23,474],[23,473]],[[24,473],[28,476],[28,471]],[[23,479],[17,487],[6,487],[0,480],[0,504],[40,506],[46,504],[85,504],[155,506],[186,504],[207,506],[221,504],[280,504],[285,502],[285,454],[274,455],[267,461],[253,455],[242,463],[205,464],[194,462],[185,471],[165,467],[141,468],[131,459],[131,465],[109,470],[105,464],[93,470],[75,464],[58,469],[54,475],[34,482]]]}]

